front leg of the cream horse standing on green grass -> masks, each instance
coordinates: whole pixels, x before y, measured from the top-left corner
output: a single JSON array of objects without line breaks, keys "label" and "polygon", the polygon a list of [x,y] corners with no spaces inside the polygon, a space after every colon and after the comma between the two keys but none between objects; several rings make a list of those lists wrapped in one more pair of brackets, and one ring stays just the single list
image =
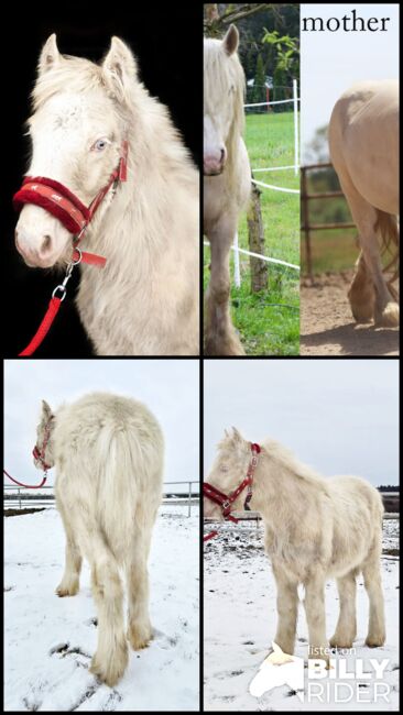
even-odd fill
[{"label": "front leg of the cream horse standing on green grass", "polygon": [[232,326],[229,296],[229,252],[237,223],[222,218],[208,234],[211,246],[210,283],[205,299],[205,352],[207,355],[243,355]]}]

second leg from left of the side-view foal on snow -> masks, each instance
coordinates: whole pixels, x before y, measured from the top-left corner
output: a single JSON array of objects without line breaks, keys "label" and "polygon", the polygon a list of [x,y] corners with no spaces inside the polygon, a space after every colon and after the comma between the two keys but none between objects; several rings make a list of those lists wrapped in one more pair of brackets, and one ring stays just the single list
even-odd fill
[{"label": "second leg from left of the side-view foal on snow", "polygon": [[328,664],[328,641],[326,640],[325,578],[314,573],[305,586],[305,613],[309,632],[309,658],[322,658]]}]

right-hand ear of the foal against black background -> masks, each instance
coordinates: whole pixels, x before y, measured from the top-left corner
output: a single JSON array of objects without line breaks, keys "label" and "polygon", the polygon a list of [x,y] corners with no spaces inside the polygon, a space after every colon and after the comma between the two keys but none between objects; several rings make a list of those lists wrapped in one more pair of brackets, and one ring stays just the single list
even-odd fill
[{"label": "right-hand ear of the foal against black background", "polygon": [[112,37],[110,48],[102,62],[105,79],[120,101],[126,101],[128,90],[137,78],[137,62],[131,50],[119,37]]}]

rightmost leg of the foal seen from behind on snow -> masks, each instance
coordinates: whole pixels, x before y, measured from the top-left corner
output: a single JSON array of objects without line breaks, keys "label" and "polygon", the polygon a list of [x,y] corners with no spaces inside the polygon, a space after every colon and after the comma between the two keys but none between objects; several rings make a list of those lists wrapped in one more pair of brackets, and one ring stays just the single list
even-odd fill
[{"label": "rightmost leg of the foal seen from behind on snow", "polygon": [[129,624],[128,639],[133,650],[145,648],[152,639],[149,615],[149,572],[152,528],[138,530],[127,566]]}]

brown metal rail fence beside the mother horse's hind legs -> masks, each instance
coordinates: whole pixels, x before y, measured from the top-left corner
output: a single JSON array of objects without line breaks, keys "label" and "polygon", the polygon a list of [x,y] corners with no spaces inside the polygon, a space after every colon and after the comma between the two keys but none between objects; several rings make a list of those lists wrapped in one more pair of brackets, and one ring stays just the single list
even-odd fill
[{"label": "brown metal rail fence beside the mother horse's hind legs", "polygon": [[312,199],[330,199],[335,197],[345,197],[341,190],[338,191],[320,191],[318,194],[308,193],[307,175],[312,170],[330,168],[333,164],[307,164],[301,166],[301,208],[302,208],[302,227],[301,230],[305,234],[305,255],[306,255],[306,273],[312,282],[314,282],[314,271],[312,262],[312,244],[311,231],[327,231],[331,229],[355,229],[355,223],[340,222],[340,223],[311,223],[309,204]]}]

